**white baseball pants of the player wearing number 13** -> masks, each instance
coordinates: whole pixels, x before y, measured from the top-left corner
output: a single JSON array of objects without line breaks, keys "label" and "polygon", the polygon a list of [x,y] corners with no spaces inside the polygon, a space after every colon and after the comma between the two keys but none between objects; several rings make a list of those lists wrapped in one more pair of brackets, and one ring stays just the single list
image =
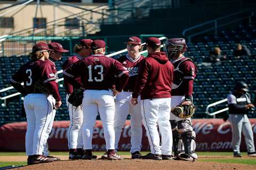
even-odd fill
[{"label": "white baseball pants of the player wearing number 13", "polygon": [[92,149],[93,127],[98,112],[103,125],[106,149],[115,149],[115,101],[111,90],[85,90],[83,98],[84,149]]}]

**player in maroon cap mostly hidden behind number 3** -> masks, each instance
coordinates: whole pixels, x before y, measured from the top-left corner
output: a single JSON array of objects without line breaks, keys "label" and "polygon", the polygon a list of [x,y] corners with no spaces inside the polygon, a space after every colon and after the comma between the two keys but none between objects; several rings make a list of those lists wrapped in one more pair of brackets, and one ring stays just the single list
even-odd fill
[{"label": "player in maroon cap mostly hidden behind number 3", "polygon": [[[59,44],[59,43],[50,43],[50,44],[48,44],[48,46],[53,51],[50,53],[49,60],[46,60],[45,62],[49,62],[49,64],[51,65],[52,72],[54,73],[54,76],[55,76],[55,81],[58,83],[58,74],[57,74],[57,70],[56,70],[56,66],[55,66],[55,61],[60,60],[61,57],[62,57],[62,54],[63,53],[68,53],[69,51],[66,50],[66,49],[63,49],[62,45]],[[46,134],[47,134],[46,138],[47,139],[49,138],[49,135],[50,135],[51,130],[52,130],[52,125],[53,125],[53,122],[54,122],[55,114],[56,114],[56,109],[53,109],[51,122],[50,122],[50,124],[48,126],[48,129],[47,129],[47,132],[46,132]],[[49,149],[48,149],[47,141],[45,143],[45,147],[44,147],[43,152],[44,152],[44,156],[46,156],[47,158],[51,158],[54,161],[60,160],[60,158],[58,158],[58,157],[53,157],[53,156],[49,155]]]}]

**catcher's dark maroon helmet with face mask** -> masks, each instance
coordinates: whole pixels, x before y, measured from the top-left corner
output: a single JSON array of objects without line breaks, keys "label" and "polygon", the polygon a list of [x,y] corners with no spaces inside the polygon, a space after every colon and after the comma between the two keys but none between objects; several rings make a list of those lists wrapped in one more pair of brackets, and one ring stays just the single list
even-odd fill
[{"label": "catcher's dark maroon helmet with face mask", "polygon": [[169,59],[184,53],[187,50],[186,40],[184,38],[171,38],[165,42],[164,51]]}]

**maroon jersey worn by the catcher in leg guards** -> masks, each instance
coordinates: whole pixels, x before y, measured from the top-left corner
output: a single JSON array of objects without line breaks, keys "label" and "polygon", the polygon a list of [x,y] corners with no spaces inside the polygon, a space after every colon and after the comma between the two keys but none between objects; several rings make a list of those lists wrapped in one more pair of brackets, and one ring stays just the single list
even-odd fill
[{"label": "maroon jersey worn by the catcher in leg guards", "polygon": [[180,57],[171,60],[174,66],[172,96],[191,96],[197,67],[190,58]]}]

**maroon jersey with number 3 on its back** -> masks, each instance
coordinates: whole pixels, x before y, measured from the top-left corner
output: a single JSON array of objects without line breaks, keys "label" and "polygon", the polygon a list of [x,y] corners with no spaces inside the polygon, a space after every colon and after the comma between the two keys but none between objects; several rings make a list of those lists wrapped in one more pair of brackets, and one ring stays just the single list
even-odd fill
[{"label": "maroon jersey with number 3 on its back", "polygon": [[19,71],[10,79],[10,82],[14,88],[20,87],[20,83],[24,82],[25,91],[20,91],[20,88],[15,89],[21,92],[21,94],[35,94],[41,93],[35,90],[35,82],[42,81],[46,84],[56,101],[60,101],[58,84],[55,82],[55,79],[55,74],[52,72],[49,62],[37,60],[35,62],[30,61],[21,66]]}]

